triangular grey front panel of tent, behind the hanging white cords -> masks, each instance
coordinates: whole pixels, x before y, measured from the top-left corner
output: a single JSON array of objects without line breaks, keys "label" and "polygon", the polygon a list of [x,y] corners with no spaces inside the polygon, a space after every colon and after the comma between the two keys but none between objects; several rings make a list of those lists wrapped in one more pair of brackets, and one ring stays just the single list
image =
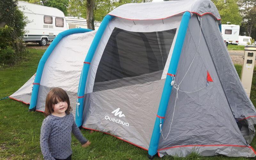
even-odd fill
[{"label": "triangular grey front panel of tent, behind the hanging white cords", "polygon": [[[207,23],[206,19],[208,18],[212,17],[203,16],[202,24],[206,27],[217,25],[216,22]],[[189,21],[177,69],[176,82],[178,84],[194,58],[199,35],[200,25],[197,16],[193,16]],[[214,54],[218,54],[218,52],[214,52]],[[206,85],[207,71],[213,82],[209,82],[209,86],[198,92],[187,93],[196,91]],[[168,154],[183,157],[193,151],[203,156],[214,156],[216,154],[255,156],[253,149],[246,143],[240,132],[229,107],[204,34],[201,35],[198,53],[187,76],[180,84],[180,90],[187,92],[178,92],[172,122],[176,97],[176,90],[172,89],[162,127],[164,138],[161,136],[159,140],[158,153],[160,156]],[[171,132],[169,133],[171,123]],[[167,137],[168,133],[169,136]],[[164,140],[165,138],[166,140]]]}]

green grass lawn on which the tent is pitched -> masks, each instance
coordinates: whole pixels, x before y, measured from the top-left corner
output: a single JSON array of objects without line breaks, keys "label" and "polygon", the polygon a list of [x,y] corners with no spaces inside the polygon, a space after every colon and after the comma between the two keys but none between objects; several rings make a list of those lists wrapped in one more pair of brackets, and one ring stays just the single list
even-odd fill
[{"label": "green grass lawn on which the tent is pitched", "polygon": [[[28,49],[28,61],[11,68],[0,70],[0,98],[17,91],[36,72],[44,50]],[[241,66],[235,65],[239,75]],[[256,68],[254,71],[251,100],[256,105]],[[41,112],[28,112],[28,105],[11,99],[0,100],[0,159],[42,159],[39,137],[44,119]],[[73,159],[147,159],[147,151],[119,140],[113,136],[82,129],[86,138],[92,141],[88,148],[82,148],[72,136]],[[256,148],[256,139],[251,143]],[[156,157],[155,159],[160,159]],[[185,158],[164,156],[162,159],[245,159],[226,156],[203,157],[191,153]]]}]

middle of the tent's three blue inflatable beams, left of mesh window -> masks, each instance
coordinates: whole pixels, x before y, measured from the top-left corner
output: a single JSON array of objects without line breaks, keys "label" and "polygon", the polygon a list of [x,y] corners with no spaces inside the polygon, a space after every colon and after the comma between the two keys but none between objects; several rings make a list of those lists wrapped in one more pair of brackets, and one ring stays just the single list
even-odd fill
[{"label": "middle of the tent's three blue inflatable beams, left of mesh window", "polygon": [[106,15],[104,17],[95,37],[93,38],[92,44],[91,44],[91,46],[88,50],[88,53],[86,55],[86,58],[84,60],[84,66],[83,66],[83,70],[81,72],[80,81],[79,81],[79,85],[78,85],[78,91],[77,91],[76,125],[78,127],[80,127],[82,125],[82,120],[83,120],[84,91],[85,91],[85,85],[86,85],[91,61],[92,61],[94,53],[98,47],[98,44],[100,43],[100,39],[101,39],[106,27],[108,26],[109,21],[112,20],[113,18],[114,18],[114,16],[111,16],[111,15]]}]

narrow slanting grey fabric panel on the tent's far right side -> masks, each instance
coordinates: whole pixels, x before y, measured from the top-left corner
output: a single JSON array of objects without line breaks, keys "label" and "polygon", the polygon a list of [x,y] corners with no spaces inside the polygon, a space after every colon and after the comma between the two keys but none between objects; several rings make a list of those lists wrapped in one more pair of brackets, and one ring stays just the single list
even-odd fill
[{"label": "narrow slanting grey fabric panel on the tent's far right side", "polygon": [[223,44],[223,38],[215,20],[205,15],[205,21],[202,23],[202,31],[209,47],[212,60],[218,72],[220,82],[227,97],[228,104],[238,123],[243,125],[242,133],[248,143],[251,143],[254,135],[256,124],[256,110],[244,91],[236,68],[228,54],[228,50]]}]

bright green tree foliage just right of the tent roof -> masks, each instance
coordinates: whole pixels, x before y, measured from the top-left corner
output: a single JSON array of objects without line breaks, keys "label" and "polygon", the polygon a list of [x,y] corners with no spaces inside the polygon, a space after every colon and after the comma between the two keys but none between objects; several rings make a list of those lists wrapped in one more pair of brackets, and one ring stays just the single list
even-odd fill
[{"label": "bright green tree foliage just right of the tent roof", "polygon": [[239,12],[237,0],[212,0],[212,2],[220,13],[222,24],[226,24],[227,22],[236,25],[241,24],[242,17]]}]

